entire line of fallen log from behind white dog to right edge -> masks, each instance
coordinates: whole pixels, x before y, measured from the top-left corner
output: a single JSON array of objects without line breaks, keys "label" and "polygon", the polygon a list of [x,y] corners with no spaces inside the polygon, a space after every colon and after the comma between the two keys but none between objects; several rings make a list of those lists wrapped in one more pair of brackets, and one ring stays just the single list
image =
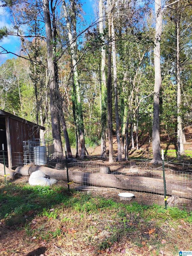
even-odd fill
[{"label": "entire line of fallen log from behind white dog to right edge", "polygon": [[[42,166],[25,166],[16,169],[22,175],[30,175],[33,171],[42,170],[50,178],[67,181],[66,170],[56,170]],[[116,175],[106,173],[88,173],[81,171],[68,171],[69,181],[73,181],[85,186],[98,186],[119,188],[127,190],[136,190],[143,192],[151,192],[154,194],[164,194],[163,179],[149,178],[143,176]],[[167,195],[192,199],[191,182],[181,182],[176,180],[166,181]]]}]

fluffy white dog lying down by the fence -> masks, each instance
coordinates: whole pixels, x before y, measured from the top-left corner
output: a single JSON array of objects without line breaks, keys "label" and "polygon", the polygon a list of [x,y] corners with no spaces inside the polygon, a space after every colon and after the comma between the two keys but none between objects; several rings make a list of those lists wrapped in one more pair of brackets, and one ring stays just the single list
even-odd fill
[{"label": "fluffy white dog lying down by the fence", "polygon": [[43,171],[37,170],[32,172],[29,177],[30,185],[41,185],[41,186],[51,186],[57,182],[56,179],[48,179]]}]

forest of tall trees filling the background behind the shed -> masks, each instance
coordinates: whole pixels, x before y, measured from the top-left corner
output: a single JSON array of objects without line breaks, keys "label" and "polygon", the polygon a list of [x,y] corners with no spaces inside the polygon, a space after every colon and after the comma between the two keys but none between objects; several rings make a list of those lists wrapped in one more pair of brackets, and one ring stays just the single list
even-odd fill
[{"label": "forest of tall trees filling the background behind the shed", "polygon": [[[55,151],[84,158],[85,144],[101,156],[128,159],[147,134],[153,163],[161,161],[160,131],[184,152],[191,125],[192,2],[95,1],[92,21],[82,2],[2,1],[10,26],[0,40],[20,50],[0,66],[1,109],[46,127]],[[0,46],[1,54],[10,50]],[[135,132],[134,132],[135,131]],[[106,149],[108,140],[108,150]]]}]

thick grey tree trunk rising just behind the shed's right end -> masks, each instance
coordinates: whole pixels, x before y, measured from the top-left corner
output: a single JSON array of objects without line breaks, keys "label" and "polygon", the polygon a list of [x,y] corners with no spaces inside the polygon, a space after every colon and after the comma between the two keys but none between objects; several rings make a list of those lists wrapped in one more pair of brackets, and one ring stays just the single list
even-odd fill
[{"label": "thick grey tree trunk rising just behind the shed's right end", "polygon": [[42,0],[43,13],[46,32],[46,46],[47,46],[47,71],[49,81],[49,97],[50,97],[50,114],[52,125],[52,136],[55,144],[56,152],[63,152],[61,142],[61,127],[58,116],[58,81],[55,75],[55,61],[53,56],[53,38],[51,29],[51,19],[49,13],[49,0]]}]

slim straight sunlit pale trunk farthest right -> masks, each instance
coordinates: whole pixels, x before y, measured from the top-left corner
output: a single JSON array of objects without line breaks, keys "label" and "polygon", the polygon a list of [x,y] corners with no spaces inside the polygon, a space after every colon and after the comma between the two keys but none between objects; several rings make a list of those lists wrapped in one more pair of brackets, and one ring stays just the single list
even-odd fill
[{"label": "slim straight sunlit pale trunk farthest right", "polygon": [[[179,7],[179,3],[178,3]],[[179,10],[178,10],[179,12]],[[181,85],[180,85],[180,64],[179,64],[179,23],[180,23],[180,15],[177,15],[176,21],[176,35],[177,35],[177,56],[176,56],[176,80],[177,80],[177,144],[178,144],[178,159],[181,158],[182,155],[185,155],[184,152],[184,144],[183,144],[183,131],[182,131],[182,116],[181,116]]]}]

